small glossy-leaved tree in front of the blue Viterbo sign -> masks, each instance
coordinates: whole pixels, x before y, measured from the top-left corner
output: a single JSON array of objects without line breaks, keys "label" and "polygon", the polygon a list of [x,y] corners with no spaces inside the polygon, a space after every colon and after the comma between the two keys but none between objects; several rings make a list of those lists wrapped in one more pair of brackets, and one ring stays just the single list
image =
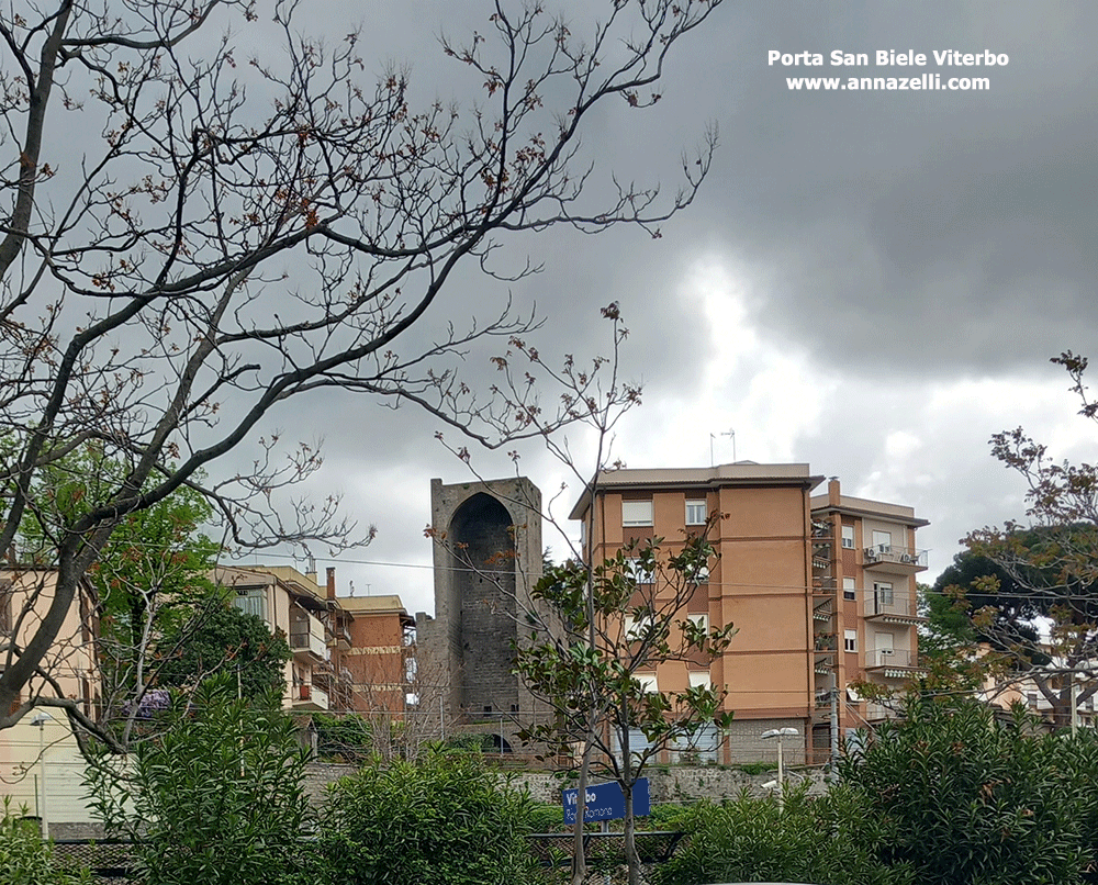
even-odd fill
[{"label": "small glossy-leaved tree in front of the blue Viterbo sign", "polygon": [[[593,568],[572,560],[549,569],[533,594],[542,608],[530,614],[531,638],[519,645],[515,662],[556,714],[530,725],[524,737],[553,754],[579,746],[584,760],[620,785],[630,885],[640,881],[632,798],[646,765],[671,747],[693,746],[703,726],[727,727],[732,717],[722,710],[725,690],[669,693],[642,679],[669,661],[712,660],[735,634],[731,624],[707,630],[685,615],[714,556],[705,536],[688,537],[674,553],[661,553],[660,544],[629,544]],[[638,732],[645,737],[640,748],[634,744]],[[585,786],[581,775],[581,796]],[[581,800],[576,833],[582,826]],[[582,849],[576,856],[573,876],[582,878]]]}]

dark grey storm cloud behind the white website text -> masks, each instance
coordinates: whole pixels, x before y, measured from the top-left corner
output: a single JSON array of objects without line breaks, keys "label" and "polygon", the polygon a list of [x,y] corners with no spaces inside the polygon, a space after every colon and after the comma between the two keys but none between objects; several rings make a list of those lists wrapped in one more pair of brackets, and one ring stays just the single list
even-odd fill
[{"label": "dark grey storm cloud behind the white website text", "polygon": [[[722,8],[668,89],[669,133],[713,114],[722,143],[679,236],[716,235],[753,265],[771,283],[758,322],[836,365],[939,373],[1085,347],[1064,323],[1098,320],[1096,32],[1089,4]],[[988,76],[985,93],[807,93],[785,78],[912,69],[771,67],[771,48],[988,48],[1010,64],[927,67]]]}]

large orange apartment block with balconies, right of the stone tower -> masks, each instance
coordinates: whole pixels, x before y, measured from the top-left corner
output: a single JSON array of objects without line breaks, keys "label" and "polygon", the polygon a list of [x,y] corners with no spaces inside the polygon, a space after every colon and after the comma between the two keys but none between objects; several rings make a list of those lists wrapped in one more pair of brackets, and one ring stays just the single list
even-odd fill
[{"label": "large orange apartment block with balconies, right of the stone tower", "polygon": [[885,713],[852,683],[898,685],[918,672],[914,575],[926,556],[915,533],[927,523],[909,507],[847,497],[838,480],[813,496],[822,482],[805,463],[616,470],[572,509],[593,561],[635,538],[663,538],[675,551],[722,515],[709,530],[708,581],[685,614],[731,621],[732,645],[708,665],[666,662],[645,676],[661,691],[727,688],[736,718],[726,735],[703,740],[703,758],[771,759],[762,733],[793,727],[800,738],[786,740],[791,758],[825,761],[832,735]]}]

